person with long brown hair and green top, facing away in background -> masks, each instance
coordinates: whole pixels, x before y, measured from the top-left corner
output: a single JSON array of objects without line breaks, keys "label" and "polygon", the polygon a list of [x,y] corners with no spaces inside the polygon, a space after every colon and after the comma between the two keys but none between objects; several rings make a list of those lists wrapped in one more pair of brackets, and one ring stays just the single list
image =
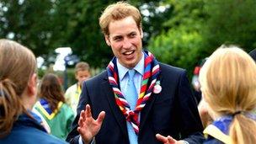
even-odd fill
[{"label": "person with long brown hair and green top, facing away in background", "polygon": [[72,109],[65,104],[56,75],[48,73],[42,78],[39,96],[40,100],[35,104],[35,109],[45,118],[51,134],[65,140],[71,130],[74,115]]}]

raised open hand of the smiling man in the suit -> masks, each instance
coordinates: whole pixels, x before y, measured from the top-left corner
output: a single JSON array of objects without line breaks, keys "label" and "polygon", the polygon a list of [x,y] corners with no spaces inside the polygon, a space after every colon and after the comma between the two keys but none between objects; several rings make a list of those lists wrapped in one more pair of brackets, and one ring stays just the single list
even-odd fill
[{"label": "raised open hand of the smiling man in the suit", "polygon": [[104,117],[105,112],[101,111],[97,120],[94,120],[89,104],[86,105],[85,111],[81,111],[80,118],[78,120],[77,131],[79,132],[80,136],[82,136],[84,143],[89,143],[93,140],[93,136],[98,134]]}]

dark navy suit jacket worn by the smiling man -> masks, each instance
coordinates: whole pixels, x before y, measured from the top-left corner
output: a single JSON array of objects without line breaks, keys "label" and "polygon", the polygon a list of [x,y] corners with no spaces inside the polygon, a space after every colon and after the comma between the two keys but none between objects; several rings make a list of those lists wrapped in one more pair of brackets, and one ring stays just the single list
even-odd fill
[{"label": "dark navy suit jacket worn by the smiling man", "polygon": [[[177,67],[160,63],[161,93],[152,93],[146,106],[141,111],[140,144],[156,144],[156,134],[173,136],[176,140],[184,139],[191,143],[202,143],[203,127],[193,94],[191,93],[186,72]],[[91,105],[93,118],[104,110],[106,115],[103,125],[95,136],[97,144],[129,144],[125,116],[121,113],[112,88],[109,85],[107,72],[102,72],[83,83],[77,107],[77,117],[73,129],[67,136],[67,141],[77,143],[77,121],[86,104]]]}]

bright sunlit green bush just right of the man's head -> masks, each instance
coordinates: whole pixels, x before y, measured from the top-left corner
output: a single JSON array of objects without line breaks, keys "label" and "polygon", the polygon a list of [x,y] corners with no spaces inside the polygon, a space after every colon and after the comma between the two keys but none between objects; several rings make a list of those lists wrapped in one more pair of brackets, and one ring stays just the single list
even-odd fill
[{"label": "bright sunlit green bush just right of the man's head", "polygon": [[202,40],[196,30],[187,31],[186,27],[179,26],[152,39],[149,50],[159,61],[184,67],[192,73],[195,63],[200,60],[199,50]]}]

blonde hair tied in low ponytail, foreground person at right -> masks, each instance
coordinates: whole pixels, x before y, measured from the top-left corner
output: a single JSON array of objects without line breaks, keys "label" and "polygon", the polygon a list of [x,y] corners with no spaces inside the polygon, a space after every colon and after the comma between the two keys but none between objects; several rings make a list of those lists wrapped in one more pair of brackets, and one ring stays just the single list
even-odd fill
[{"label": "blonde hair tied in low ponytail, foreground person at right", "polygon": [[229,135],[232,143],[256,143],[256,122],[245,114],[256,106],[256,65],[236,46],[217,49],[200,70],[201,91],[217,115],[234,115]]}]

